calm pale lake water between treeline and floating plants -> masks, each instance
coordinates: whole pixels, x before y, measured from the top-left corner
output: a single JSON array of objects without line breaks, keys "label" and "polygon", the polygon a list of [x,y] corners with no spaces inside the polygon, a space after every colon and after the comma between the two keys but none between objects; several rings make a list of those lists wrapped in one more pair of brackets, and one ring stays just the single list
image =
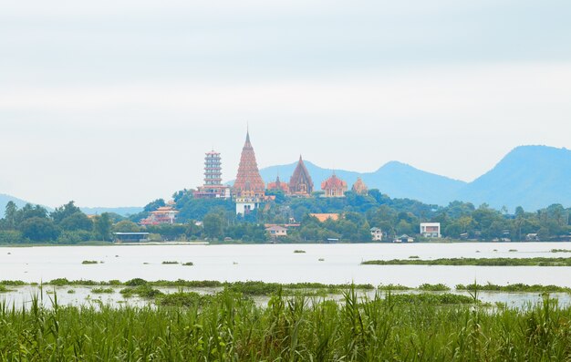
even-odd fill
[{"label": "calm pale lake water between treeline and floating plants", "polygon": [[[294,250],[306,253],[294,253]],[[517,250],[510,252],[511,249]],[[325,284],[555,284],[571,286],[571,267],[361,265],[364,260],[449,257],[571,257],[571,243],[375,243],[297,245],[122,245],[0,248],[0,280],[66,277],[126,281],[219,280]],[[319,259],[324,259],[319,261]],[[81,264],[96,260],[102,264]],[[192,262],[193,266],[161,264]]]}]

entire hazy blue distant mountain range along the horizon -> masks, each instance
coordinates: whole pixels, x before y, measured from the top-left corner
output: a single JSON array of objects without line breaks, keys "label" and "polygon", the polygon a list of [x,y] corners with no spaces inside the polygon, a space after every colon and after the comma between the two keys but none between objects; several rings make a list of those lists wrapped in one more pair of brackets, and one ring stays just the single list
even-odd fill
[{"label": "entire hazy blue distant mountain range along the horizon", "polygon": [[[315,189],[320,190],[324,181],[333,172],[305,161]],[[275,181],[280,175],[282,181],[289,181],[296,168],[296,162],[266,167],[260,170],[265,182]],[[522,206],[526,211],[536,211],[553,203],[571,206],[571,150],[547,146],[521,146],[508,153],[493,170],[472,182],[452,180],[434,173],[420,171],[414,167],[391,161],[374,172],[336,170],[337,176],[351,185],[358,177],[369,186],[379,189],[392,198],[409,198],[445,206],[454,200],[472,202],[476,206],[486,202],[493,208],[503,206],[514,211]],[[26,204],[15,197],[0,194],[0,215],[5,204],[16,202],[18,207]],[[116,212],[127,215],[140,212],[139,207],[84,208],[86,213]]]}]

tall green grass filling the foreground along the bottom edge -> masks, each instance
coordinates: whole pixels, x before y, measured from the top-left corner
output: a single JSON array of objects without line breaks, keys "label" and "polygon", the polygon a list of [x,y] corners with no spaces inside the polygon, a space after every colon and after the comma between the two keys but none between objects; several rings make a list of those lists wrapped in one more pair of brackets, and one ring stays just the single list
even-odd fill
[{"label": "tall green grass filling the foreground along the bottom edge", "polygon": [[[538,361],[571,357],[571,309],[524,310],[354,289],[339,303],[274,295],[264,307],[227,288],[167,306],[27,310],[0,304],[1,360]],[[466,298],[466,297],[463,297]],[[184,303],[177,303],[181,299]],[[475,299],[475,298],[474,298]],[[468,301],[473,301],[468,298]],[[168,306],[182,305],[182,306]]]}]

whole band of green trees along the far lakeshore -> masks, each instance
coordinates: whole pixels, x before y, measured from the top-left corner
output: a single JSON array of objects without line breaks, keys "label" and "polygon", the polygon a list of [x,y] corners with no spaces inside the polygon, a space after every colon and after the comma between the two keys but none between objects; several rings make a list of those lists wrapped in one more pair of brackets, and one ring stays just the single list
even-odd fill
[{"label": "whole band of green trees along the far lakeshore", "polygon": [[[5,218],[0,219],[0,243],[81,243],[110,241],[113,232],[148,232],[153,240],[242,240],[264,243],[268,240],[265,224],[299,223],[288,230],[282,242],[370,242],[370,228],[378,227],[384,240],[402,234],[420,237],[420,222],[441,222],[445,238],[478,241],[568,240],[571,233],[569,214],[560,204],[536,212],[518,207],[513,214],[494,210],[483,204],[451,202],[446,207],[425,204],[410,199],[391,199],[378,190],[367,195],[348,191],[345,198],[288,198],[273,192],[275,200],[250,214],[236,215],[230,200],[194,199],[192,190],[172,195],[179,212],[177,224],[140,226],[150,212],[164,206],[157,199],[147,204],[143,212],[124,218],[114,213],[88,217],[74,202],[68,202],[54,212],[41,206],[26,205],[18,209],[9,202]],[[319,222],[310,213],[339,213],[337,221]]]}]

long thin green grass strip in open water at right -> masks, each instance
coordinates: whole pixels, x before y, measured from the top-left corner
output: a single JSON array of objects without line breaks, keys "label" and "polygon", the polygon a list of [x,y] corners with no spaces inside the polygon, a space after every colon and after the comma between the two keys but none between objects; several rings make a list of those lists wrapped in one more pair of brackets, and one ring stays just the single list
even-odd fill
[{"label": "long thin green grass strip in open water at right", "polygon": [[364,265],[479,265],[479,266],[571,266],[571,258],[448,258],[434,260],[369,260]]}]

